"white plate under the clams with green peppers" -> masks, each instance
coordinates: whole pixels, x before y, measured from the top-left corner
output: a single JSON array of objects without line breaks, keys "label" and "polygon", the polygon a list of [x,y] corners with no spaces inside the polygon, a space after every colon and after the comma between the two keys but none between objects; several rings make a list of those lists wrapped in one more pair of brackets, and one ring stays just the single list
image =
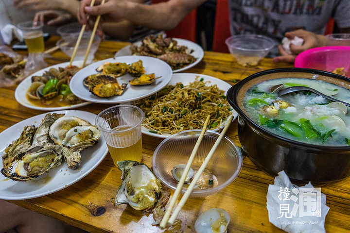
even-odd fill
[{"label": "white plate under the clams with green peppers", "polygon": [[[16,98],[17,102],[20,103],[21,105],[27,107],[27,108],[42,110],[42,111],[57,111],[57,110],[64,110],[64,109],[72,109],[72,108],[78,108],[78,107],[82,107],[82,106],[90,104],[90,102],[82,102],[82,103],[67,105],[67,106],[62,106],[62,107],[39,107],[39,106],[33,105],[27,99],[27,91],[28,91],[30,85],[32,84],[32,76],[41,76],[45,71],[47,71],[51,68],[67,67],[67,66],[69,66],[69,64],[70,64],[69,62],[64,62],[64,63],[60,63],[60,64],[57,64],[57,65],[54,65],[51,67],[46,67],[46,68],[39,70],[39,71],[35,72],[34,74],[28,76],[27,78],[25,78],[21,83],[18,84],[18,87],[16,88],[15,98]],[[72,65],[80,67],[81,65],[83,65],[83,61],[74,61]]]}]

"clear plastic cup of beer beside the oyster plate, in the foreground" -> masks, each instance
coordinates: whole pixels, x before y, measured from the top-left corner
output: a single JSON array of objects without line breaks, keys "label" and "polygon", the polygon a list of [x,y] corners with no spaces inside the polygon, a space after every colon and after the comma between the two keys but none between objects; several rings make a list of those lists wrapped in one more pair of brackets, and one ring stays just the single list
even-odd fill
[{"label": "clear plastic cup of beer beside the oyster plate, in the foreground", "polygon": [[134,105],[117,105],[102,111],[95,119],[95,125],[105,138],[109,153],[117,161],[141,162],[141,123],[143,111]]}]

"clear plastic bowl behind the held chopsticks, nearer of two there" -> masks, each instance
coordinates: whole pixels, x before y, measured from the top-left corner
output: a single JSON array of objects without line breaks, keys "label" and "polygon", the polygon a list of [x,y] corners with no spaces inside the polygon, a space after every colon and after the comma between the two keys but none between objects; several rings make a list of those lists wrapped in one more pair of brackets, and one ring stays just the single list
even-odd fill
[{"label": "clear plastic bowl behind the held chopsticks, nearer of two there", "polygon": [[[64,52],[66,55],[71,57],[73,54],[75,43],[78,39],[78,36],[67,36],[59,41],[57,41],[56,45]],[[82,40],[80,41],[78,50],[75,54],[74,60],[84,60],[86,50],[88,49],[88,42],[90,40],[90,35],[83,35]],[[90,52],[88,54],[87,61],[90,62],[94,58],[94,54],[97,51],[101,42],[101,38],[97,35],[94,36],[94,40],[91,44]]]}]

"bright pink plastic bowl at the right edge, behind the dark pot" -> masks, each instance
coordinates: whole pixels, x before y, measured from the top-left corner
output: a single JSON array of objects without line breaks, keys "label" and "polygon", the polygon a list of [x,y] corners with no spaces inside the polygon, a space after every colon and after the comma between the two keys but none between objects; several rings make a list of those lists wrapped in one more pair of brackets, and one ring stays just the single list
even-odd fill
[{"label": "bright pink plastic bowl at the right edge, behind the dark pot", "polygon": [[346,76],[350,77],[350,47],[327,46],[305,50],[297,55],[294,66],[332,72],[344,67]]}]

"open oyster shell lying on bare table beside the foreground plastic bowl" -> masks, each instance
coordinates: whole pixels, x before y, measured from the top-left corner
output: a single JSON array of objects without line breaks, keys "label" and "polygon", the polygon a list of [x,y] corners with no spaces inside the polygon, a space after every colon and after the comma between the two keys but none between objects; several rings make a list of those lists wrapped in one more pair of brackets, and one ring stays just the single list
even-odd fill
[{"label": "open oyster shell lying on bare table beside the foreground plastic bowl", "polygon": [[129,204],[135,210],[148,210],[155,206],[161,184],[151,169],[145,164],[125,160],[117,162],[122,171],[115,204]]}]

